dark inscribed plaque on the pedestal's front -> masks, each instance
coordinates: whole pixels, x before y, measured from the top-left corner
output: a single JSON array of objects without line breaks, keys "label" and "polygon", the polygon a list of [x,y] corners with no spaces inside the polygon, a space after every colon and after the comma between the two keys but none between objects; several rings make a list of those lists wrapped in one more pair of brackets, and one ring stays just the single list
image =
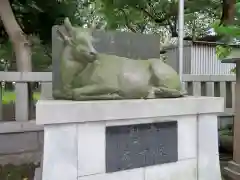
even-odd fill
[{"label": "dark inscribed plaque on the pedestal's front", "polygon": [[106,128],[106,172],[178,160],[177,121]]}]

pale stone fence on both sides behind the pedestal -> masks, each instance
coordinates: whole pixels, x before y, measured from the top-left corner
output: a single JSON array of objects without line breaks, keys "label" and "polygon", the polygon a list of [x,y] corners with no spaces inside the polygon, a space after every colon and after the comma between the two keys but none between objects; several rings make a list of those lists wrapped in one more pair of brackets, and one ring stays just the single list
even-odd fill
[{"label": "pale stone fence on both sides behind the pedestal", "polygon": [[[189,95],[215,96],[225,98],[225,113],[223,115],[234,115],[235,100],[235,75],[184,75],[183,81]],[[51,98],[52,73],[51,72],[0,72],[0,81],[15,82],[16,100],[12,121],[4,119],[4,106],[0,99],[0,133],[23,132],[39,130],[36,126],[34,116],[30,114],[35,111],[35,102],[28,101],[28,83],[40,82],[40,99]],[[1,89],[0,89],[1,90]],[[0,96],[2,98],[2,96]]]}]

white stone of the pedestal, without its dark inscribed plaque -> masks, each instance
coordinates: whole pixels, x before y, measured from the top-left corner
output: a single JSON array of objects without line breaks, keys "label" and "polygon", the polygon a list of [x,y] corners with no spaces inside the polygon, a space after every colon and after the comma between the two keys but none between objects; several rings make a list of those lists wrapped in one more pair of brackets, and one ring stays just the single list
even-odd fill
[{"label": "white stone of the pedestal, without its dark inscribed plaque", "polygon": [[[224,99],[217,97],[107,102],[40,100],[37,104],[37,123],[45,124],[44,133],[48,137],[44,142],[43,179],[186,180],[187,177],[187,180],[220,180],[217,115],[223,111]],[[104,162],[107,159],[101,149],[106,147],[107,141],[99,140],[105,131],[97,124],[109,127],[174,120],[178,121],[177,162],[115,173],[102,171],[106,169]],[[77,127],[80,125],[82,128]],[[168,137],[167,134],[164,138]],[[160,140],[162,138],[159,137]],[[83,161],[79,154],[89,158]],[[102,158],[104,160],[96,168],[96,162]],[[85,170],[88,172],[83,172],[81,176],[79,172],[83,166],[79,165],[83,162],[86,162]],[[95,171],[89,172],[90,167],[95,167]]]}]

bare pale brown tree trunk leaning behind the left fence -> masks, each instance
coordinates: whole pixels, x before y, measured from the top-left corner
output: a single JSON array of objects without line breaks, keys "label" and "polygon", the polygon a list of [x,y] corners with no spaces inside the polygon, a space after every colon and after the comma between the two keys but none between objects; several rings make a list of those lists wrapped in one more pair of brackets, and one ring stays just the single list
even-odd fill
[{"label": "bare pale brown tree trunk leaning behind the left fence", "polygon": [[16,21],[9,0],[0,0],[0,17],[12,42],[18,71],[32,71],[30,44]]}]

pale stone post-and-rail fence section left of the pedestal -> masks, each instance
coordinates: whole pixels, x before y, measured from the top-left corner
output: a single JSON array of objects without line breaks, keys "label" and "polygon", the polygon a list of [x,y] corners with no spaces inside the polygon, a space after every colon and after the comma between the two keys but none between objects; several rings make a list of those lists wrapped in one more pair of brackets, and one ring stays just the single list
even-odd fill
[{"label": "pale stone post-and-rail fence section left of the pedestal", "polygon": [[[35,102],[29,102],[29,82],[40,82],[40,99],[51,97],[51,72],[0,72],[0,82],[15,82],[15,102],[3,104],[4,91],[0,86],[0,134],[24,131],[39,131],[35,125]],[[4,116],[7,114],[7,117]],[[9,116],[12,115],[11,117]]]}]

